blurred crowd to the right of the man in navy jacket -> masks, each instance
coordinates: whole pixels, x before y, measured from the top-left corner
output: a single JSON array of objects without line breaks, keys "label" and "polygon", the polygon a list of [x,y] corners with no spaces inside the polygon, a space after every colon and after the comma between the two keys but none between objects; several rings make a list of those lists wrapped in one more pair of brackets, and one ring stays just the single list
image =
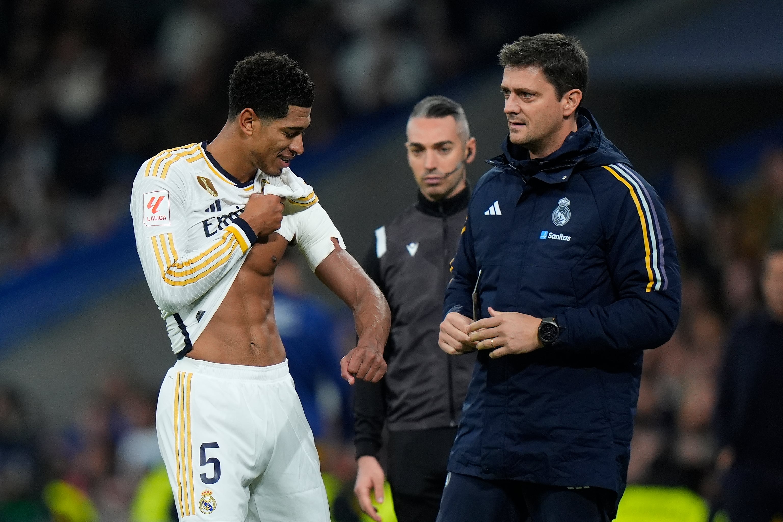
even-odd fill
[{"label": "blurred crowd to the right of the man in navy jacket", "polygon": [[743,185],[720,185],[695,157],[677,160],[662,185],[683,272],[682,315],[672,340],[644,354],[629,481],[714,499],[728,464],[712,429],[721,355],[732,322],[762,305],[760,263],[783,238],[783,149],[766,144]]}]

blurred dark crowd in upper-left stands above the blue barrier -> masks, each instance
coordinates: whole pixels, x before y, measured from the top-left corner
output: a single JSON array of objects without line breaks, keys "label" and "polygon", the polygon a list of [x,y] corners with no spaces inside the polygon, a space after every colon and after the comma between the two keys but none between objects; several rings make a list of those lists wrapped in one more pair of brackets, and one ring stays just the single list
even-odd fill
[{"label": "blurred dark crowd in upper-left stands above the blue barrier", "polygon": [[301,63],[318,86],[312,145],[493,63],[525,28],[508,16],[517,3],[2,2],[0,240],[13,247],[0,271],[105,231],[126,213],[139,164],[215,135],[237,59],[275,49]]}]

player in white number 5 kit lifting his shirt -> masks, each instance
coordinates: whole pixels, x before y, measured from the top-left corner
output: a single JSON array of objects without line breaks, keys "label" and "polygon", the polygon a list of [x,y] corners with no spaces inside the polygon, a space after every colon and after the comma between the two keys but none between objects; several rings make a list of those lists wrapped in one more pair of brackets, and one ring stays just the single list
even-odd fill
[{"label": "player in white number 5 kit lifting his shirt", "polygon": [[178,358],[161,386],[157,434],[181,520],[330,520],[274,319],[272,279],[287,245],[353,310],[359,341],[343,377],[377,382],[386,371],[388,304],[289,168],[304,152],[312,100],[294,60],[249,56],[231,74],[218,136],[164,150],[135,178],[136,247]]}]

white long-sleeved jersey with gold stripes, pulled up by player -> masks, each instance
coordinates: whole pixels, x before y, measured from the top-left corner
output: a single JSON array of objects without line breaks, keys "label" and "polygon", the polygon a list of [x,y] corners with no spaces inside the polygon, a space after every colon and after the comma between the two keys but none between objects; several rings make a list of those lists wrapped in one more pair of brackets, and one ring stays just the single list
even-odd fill
[{"label": "white long-sleeved jersey with gold stripes, pulled up by player", "polygon": [[258,171],[240,183],[206,145],[164,150],[144,162],[133,182],[136,250],[175,353],[190,351],[255,243],[240,218],[252,193],[287,198],[277,232],[297,239],[312,270],[334,250],[332,237],[345,248],[312,188],[290,169],[280,176]]}]

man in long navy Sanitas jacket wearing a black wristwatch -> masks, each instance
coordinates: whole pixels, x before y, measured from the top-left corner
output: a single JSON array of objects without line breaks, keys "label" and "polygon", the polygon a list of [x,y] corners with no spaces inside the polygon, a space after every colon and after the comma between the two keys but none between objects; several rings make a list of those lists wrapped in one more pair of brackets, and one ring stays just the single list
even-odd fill
[{"label": "man in long navy Sanitas jacket wearing a black wristwatch", "polygon": [[440,329],[447,353],[479,352],[438,520],[612,520],[642,352],[680,315],[672,232],[579,108],[579,41],[523,37],[500,63],[510,133],[471,198]]}]

